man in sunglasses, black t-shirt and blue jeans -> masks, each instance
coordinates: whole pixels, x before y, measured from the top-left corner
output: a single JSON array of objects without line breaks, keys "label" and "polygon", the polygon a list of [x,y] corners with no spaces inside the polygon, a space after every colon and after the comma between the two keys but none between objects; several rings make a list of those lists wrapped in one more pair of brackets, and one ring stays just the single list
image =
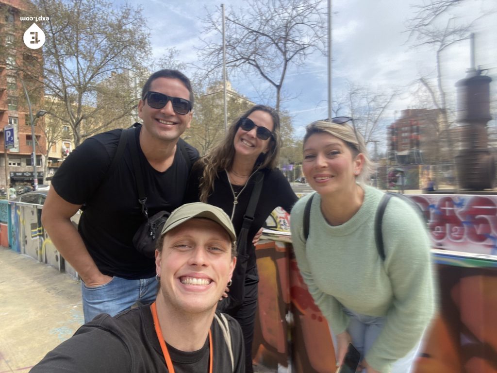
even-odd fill
[{"label": "man in sunglasses, black t-shirt and blue jeans", "polygon": [[[175,70],[152,74],[138,104],[143,124],[137,123],[130,137],[136,140],[136,153],[129,141],[118,153],[122,130],[101,133],[78,146],[52,180],[42,223],[83,280],[85,322],[155,299],[154,260],[132,242],[145,220],[133,154],[139,158],[149,216],[181,205],[190,167],[198,158],[197,150],[179,138],[190,126],[192,107],[186,76]],[[76,229],[70,219],[82,207]]]}]

